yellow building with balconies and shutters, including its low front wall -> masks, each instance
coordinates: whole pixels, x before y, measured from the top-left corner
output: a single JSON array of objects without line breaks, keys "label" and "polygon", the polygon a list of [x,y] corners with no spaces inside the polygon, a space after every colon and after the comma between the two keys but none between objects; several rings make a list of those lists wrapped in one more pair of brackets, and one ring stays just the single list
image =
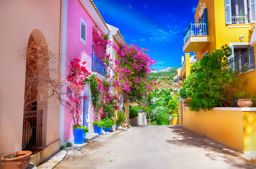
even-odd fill
[{"label": "yellow building with balconies and shutters, including its low front wall", "polygon": [[[228,58],[228,67],[241,71],[246,66],[247,72],[238,77],[241,81],[247,79],[246,92],[256,95],[255,22],[255,0],[199,0],[195,22],[191,22],[184,33],[183,52],[186,53],[182,77],[187,78],[190,74],[191,64],[186,66],[186,63],[191,58],[191,52],[199,61],[202,56],[227,44],[233,51],[233,55]],[[192,112],[184,101],[181,100],[179,107],[179,123],[182,126],[239,152],[256,152],[255,107],[214,107],[210,111]]]}]

